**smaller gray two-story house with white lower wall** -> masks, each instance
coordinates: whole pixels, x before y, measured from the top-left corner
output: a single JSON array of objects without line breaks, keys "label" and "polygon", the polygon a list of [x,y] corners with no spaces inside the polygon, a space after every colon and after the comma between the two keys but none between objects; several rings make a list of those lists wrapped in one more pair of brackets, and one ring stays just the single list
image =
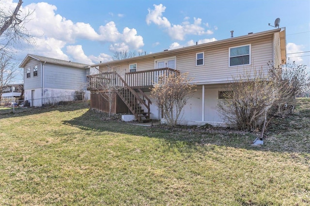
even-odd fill
[{"label": "smaller gray two-story house with white lower wall", "polygon": [[24,99],[31,106],[73,101],[75,91],[86,91],[87,64],[28,54],[19,67],[24,69]]}]

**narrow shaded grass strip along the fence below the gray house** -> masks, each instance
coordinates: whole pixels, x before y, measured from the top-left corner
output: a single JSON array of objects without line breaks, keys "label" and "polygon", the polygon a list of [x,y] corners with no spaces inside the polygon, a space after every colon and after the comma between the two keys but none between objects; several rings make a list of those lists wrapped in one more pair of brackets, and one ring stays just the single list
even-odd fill
[{"label": "narrow shaded grass strip along the fence below the gray house", "polygon": [[13,108],[7,108],[7,109],[0,110],[0,119],[24,117],[28,115],[46,113],[46,112],[51,112],[51,111],[56,111],[56,110],[60,112],[75,111],[79,109],[84,109],[86,106],[89,107],[88,102],[71,103],[68,105],[54,105],[54,106],[46,106],[46,107],[15,108],[15,113],[13,112]]}]

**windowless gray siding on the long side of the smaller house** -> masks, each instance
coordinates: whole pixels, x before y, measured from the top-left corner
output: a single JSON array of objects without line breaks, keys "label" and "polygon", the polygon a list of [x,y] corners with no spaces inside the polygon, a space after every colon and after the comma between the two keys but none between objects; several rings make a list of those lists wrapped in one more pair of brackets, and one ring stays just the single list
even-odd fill
[{"label": "windowless gray siding on the long side of the smaller house", "polygon": [[85,87],[85,69],[44,65],[44,88],[81,89]]}]

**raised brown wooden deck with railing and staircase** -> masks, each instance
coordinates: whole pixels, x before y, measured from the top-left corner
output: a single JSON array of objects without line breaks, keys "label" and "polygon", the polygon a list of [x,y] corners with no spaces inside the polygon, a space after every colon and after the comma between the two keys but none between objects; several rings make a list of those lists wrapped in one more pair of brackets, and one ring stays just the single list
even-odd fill
[{"label": "raised brown wooden deck with railing and staircase", "polygon": [[[112,113],[126,109],[135,115],[139,122],[150,120],[151,100],[144,93],[153,88],[160,78],[178,75],[179,71],[170,68],[126,73],[124,79],[116,72],[105,72],[87,76],[87,90],[91,91],[91,108],[107,111],[109,103],[104,98],[113,92]],[[121,103],[121,101],[123,103]]]}]

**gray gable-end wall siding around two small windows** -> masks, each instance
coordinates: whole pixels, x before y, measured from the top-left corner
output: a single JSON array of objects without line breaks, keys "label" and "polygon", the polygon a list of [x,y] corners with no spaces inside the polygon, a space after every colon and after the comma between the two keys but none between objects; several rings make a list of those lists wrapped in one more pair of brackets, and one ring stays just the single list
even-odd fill
[{"label": "gray gable-end wall siding around two small windows", "polygon": [[[33,67],[38,66],[38,75],[33,76]],[[27,78],[27,69],[30,68],[30,77]],[[36,59],[30,59],[24,67],[24,89],[41,88],[41,62]]]}]

